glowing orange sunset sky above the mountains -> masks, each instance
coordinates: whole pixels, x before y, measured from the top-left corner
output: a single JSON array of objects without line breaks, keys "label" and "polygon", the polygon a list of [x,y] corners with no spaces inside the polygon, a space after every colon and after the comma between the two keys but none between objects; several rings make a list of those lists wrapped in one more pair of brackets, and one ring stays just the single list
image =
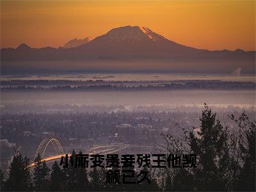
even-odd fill
[{"label": "glowing orange sunset sky above the mountains", "polygon": [[147,26],[200,49],[255,50],[256,1],[1,1],[1,47],[59,47],[119,26]]}]

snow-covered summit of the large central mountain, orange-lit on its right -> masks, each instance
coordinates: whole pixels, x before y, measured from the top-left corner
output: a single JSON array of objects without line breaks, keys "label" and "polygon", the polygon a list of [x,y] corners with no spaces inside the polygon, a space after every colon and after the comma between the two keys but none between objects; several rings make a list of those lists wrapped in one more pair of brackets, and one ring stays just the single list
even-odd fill
[{"label": "snow-covered summit of the large central mountain, orange-lit on its right", "polygon": [[108,31],[105,35],[99,36],[98,39],[110,42],[159,42],[167,40],[151,29],[143,26],[124,26],[114,28]]}]

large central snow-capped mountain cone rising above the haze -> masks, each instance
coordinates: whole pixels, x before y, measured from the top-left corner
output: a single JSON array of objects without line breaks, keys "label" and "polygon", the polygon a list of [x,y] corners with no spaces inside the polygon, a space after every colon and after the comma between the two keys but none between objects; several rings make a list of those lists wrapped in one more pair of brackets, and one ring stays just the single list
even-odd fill
[{"label": "large central snow-capped mountain cone rising above the haze", "polygon": [[125,26],[111,29],[73,51],[86,58],[168,58],[202,50],[172,42],[146,27]]}]

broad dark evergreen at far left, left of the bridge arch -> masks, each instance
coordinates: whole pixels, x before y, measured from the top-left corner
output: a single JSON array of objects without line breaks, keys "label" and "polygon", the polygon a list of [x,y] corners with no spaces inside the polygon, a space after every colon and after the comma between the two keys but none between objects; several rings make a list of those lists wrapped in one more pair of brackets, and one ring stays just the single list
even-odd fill
[{"label": "broad dark evergreen at far left, left of the bridge arch", "polygon": [[29,159],[23,158],[20,152],[16,152],[8,170],[8,179],[4,185],[6,191],[31,190],[31,173],[28,165]]}]

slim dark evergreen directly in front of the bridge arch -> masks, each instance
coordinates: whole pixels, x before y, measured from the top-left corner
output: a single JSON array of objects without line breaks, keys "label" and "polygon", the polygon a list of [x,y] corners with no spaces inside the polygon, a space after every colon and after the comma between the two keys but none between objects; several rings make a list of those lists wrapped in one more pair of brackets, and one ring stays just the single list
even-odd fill
[{"label": "slim dark evergreen directly in front of the bridge arch", "polygon": [[35,159],[34,168],[34,185],[36,191],[45,191],[49,186],[49,172],[50,169],[47,167],[45,161],[42,162],[40,154]]}]

